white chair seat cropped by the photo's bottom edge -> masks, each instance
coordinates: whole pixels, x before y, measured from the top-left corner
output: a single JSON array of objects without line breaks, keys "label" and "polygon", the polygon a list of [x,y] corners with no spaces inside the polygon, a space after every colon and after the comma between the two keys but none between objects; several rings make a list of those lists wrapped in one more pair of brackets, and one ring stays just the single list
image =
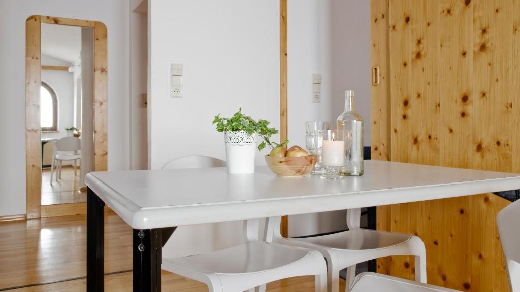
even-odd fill
[{"label": "white chair seat cropped by the photo's bottom edge", "polygon": [[392,276],[365,272],[359,274],[350,292],[458,292]]}]

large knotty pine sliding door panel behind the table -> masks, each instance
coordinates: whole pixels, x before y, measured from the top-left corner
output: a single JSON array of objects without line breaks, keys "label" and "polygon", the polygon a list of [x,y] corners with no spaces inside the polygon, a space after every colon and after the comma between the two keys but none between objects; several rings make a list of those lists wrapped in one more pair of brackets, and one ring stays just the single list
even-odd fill
[{"label": "large knotty pine sliding door panel behind the table", "polygon": [[[373,158],[520,172],[520,0],[372,0],[371,8],[372,66],[388,74],[388,96],[372,87],[372,150],[389,151]],[[507,204],[482,194],[378,207],[378,229],[423,239],[428,283],[508,291],[495,221]],[[413,262],[385,258],[378,270],[413,279]]]}]

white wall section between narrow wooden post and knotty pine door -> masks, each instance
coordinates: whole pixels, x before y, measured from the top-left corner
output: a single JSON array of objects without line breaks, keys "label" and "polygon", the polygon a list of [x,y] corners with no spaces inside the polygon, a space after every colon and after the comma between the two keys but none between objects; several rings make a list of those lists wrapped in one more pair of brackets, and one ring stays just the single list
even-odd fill
[{"label": "white wall section between narrow wooden post and knotty pine door", "polygon": [[[354,89],[370,145],[370,1],[288,1],[288,122],[291,144],[305,147],[306,121],[335,121],[345,89]],[[321,103],[311,102],[312,75],[322,74]],[[346,228],[345,211],[289,216],[289,236]]]}]

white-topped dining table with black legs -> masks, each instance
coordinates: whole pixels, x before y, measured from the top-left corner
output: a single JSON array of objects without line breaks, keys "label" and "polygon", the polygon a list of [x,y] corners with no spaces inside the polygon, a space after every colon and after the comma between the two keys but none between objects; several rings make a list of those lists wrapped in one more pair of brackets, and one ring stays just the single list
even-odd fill
[{"label": "white-topped dining table with black legs", "polygon": [[103,206],[133,228],[134,291],[161,290],[161,249],[179,225],[265,218],[520,189],[520,175],[366,161],[342,180],[252,175],[226,168],[92,172],[87,192],[87,291],[103,291]]}]

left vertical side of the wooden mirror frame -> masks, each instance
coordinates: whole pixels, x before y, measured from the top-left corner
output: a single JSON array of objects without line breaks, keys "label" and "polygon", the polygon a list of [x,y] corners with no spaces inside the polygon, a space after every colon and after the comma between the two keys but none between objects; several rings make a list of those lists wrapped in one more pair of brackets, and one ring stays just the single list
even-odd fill
[{"label": "left vertical side of the wooden mirror frame", "polygon": [[27,218],[40,217],[42,162],[40,129],[40,16],[25,22],[25,191]]}]

